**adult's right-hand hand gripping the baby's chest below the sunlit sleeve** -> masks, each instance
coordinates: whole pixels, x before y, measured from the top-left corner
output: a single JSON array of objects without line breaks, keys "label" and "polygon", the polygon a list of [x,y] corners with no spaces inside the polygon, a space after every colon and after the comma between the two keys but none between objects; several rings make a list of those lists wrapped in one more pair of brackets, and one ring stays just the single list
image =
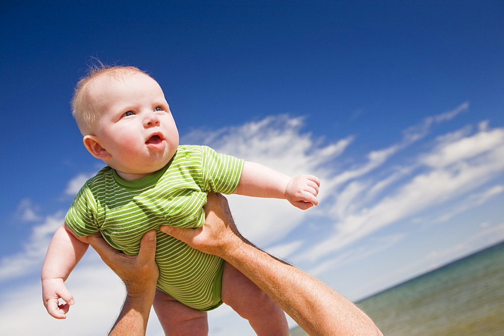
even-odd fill
[{"label": "adult's right-hand hand gripping the baby's chest below the sunlit sleeve", "polygon": [[227,199],[221,194],[208,193],[205,224],[198,228],[162,225],[161,231],[210,255],[222,257],[244,243],[234,225]]}]

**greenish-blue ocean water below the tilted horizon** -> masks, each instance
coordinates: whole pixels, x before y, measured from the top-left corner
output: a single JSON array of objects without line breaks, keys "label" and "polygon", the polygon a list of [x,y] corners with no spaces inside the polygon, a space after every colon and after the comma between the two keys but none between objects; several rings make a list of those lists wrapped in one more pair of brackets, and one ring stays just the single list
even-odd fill
[{"label": "greenish-blue ocean water below the tilted horizon", "polygon": [[388,336],[504,335],[504,242],[357,304]]}]

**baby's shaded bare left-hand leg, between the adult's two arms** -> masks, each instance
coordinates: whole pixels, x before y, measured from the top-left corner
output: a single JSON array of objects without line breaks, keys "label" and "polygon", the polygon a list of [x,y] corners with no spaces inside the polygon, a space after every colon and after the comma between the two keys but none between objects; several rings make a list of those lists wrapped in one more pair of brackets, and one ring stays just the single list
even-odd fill
[{"label": "baby's shaded bare left-hand leg, between the adult's two arms", "polygon": [[153,306],[166,335],[208,335],[207,312],[187,307],[159,289]]}]

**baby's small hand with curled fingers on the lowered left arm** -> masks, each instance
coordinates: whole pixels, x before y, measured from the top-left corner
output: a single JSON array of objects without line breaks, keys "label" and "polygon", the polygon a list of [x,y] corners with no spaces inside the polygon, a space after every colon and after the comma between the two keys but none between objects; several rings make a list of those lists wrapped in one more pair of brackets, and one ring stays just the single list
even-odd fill
[{"label": "baby's small hand with curled fingers on the lowered left arm", "polygon": [[[49,315],[58,319],[67,318],[66,313],[75,303],[74,297],[63,283],[63,279],[42,280],[42,299]],[[59,304],[59,299],[63,299],[65,303]]]}]

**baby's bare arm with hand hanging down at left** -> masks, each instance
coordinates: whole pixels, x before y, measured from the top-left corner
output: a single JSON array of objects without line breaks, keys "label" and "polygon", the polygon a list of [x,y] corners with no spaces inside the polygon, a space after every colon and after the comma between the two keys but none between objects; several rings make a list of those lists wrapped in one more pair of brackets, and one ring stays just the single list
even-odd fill
[{"label": "baby's bare arm with hand hanging down at left", "polygon": [[[49,244],[42,266],[42,299],[45,309],[54,318],[66,318],[65,314],[75,303],[64,281],[86,253],[89,246],[86,242],[87,237],[77,238],[64,223]],[[65,304],[59,304],[60,298]]]}]

